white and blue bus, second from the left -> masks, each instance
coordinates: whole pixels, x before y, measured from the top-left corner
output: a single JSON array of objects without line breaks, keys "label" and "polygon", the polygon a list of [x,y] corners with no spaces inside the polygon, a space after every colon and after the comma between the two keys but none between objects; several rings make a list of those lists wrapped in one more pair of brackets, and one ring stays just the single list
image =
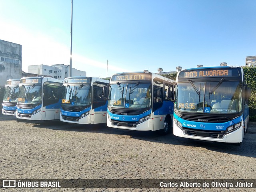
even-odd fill
[{"label": "white and blue bus, second from the left", "polygon": [[18,119],[60,119],[62,80],[52,77],[23,77],[17,102]]}]

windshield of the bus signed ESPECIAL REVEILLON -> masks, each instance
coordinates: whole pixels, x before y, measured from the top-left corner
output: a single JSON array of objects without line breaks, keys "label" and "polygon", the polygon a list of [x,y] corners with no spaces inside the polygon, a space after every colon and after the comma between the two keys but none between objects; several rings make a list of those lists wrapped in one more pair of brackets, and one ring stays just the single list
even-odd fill
[{"label": "windshield of the bus signed ESPECIAL REVEILLON", "polygon": [[150,83],[116,83],[111,85],[108,106],[145,108],[151,105]]}]

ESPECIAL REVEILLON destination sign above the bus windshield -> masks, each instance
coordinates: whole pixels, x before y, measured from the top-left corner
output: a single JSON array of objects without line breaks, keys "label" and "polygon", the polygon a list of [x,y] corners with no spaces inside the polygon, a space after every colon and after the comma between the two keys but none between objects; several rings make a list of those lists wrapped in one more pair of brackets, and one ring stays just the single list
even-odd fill
[{"label": "ESPECIAL REVEILLON destination sign above the bus windshield", "polygon": [[130,73],[122,75],[113,75],[111,81],[140,81],[150,80],[150,74],[148,73]]}]

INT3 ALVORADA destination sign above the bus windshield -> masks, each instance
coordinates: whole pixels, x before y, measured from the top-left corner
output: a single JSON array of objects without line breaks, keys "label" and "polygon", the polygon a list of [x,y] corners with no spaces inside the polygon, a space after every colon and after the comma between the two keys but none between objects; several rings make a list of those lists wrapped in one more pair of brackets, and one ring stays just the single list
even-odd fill
[{"label": "INT3 ALVORADA destination sign above the bus windshield", "polygon": [[206,77],[238,77],[237,69],[203,69],[192,71],[181,71],[178,78],[206,78]]}]

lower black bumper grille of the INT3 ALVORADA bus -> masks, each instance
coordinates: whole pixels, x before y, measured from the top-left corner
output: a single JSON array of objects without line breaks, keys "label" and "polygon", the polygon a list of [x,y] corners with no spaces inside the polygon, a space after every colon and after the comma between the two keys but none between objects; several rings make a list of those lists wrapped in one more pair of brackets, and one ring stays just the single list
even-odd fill
[{"label": "lower black bumper grille of the INT3 ALVORADA bus", "polygon": [[183,131],[186,135],[198,136],[198,137],[210,137],[216,139],[222,139],[225,133],[221,133],[220,131],[210,132],[210,131],[198,131],[198,130],[191,130],[191,129],[184,129]]}]

